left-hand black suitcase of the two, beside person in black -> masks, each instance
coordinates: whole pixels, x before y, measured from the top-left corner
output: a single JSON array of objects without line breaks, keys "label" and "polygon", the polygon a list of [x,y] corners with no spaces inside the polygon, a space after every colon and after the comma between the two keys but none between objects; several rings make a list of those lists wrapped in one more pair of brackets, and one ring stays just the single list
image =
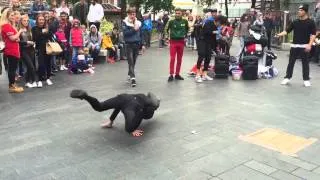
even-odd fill
[{"label": "left-hand black suitcase of the two, beside person in black", "polygon": [[227,55],[217,55],[215,57],[214,73],[215,78],[228,78],[229,76],[229,60]]}]

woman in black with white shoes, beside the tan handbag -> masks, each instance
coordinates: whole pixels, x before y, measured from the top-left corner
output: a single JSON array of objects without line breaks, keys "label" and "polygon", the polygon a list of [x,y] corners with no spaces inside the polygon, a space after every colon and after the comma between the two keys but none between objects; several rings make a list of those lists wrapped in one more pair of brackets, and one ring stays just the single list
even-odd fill
[{"label": "woman in black with white shoes, beside the tan handbag", "polygon": [[49,32],[49,28],[45,22],[45,17],[39,14],[36,19],[37,25],[32,28],[32,37],[38,50],[38,87],[40,88],[42,87],[42,81],[46,81],[49,86],[53,84],[50,80],[51,58],[46,52],[46,44],[52,38],[52,33]]}]

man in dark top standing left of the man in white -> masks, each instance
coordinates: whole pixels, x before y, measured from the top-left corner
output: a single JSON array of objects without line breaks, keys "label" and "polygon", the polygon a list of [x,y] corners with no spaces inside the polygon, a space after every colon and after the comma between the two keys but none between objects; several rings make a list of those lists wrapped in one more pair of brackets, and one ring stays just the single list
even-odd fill
[{"label": "man in dark top standing left of the man in white", "polygon": [[88,4],[85,0],[80,0],[77,2],[72,9],[73,19],[79,19],[81,24],[87,26],[87,15],[89,12]]}]

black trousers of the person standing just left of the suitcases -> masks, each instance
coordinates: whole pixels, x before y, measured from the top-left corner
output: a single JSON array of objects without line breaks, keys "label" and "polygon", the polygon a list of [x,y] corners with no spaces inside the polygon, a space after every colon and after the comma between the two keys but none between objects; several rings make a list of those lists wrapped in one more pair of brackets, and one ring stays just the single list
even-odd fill
[{"label": "black trousers of the person standing just left of the suitcases", "polygon": [[212,55],[212,44],[205,42],[203,40],[197,40],[197,50],[198,50],[198,61],[197,69],[201,68],[201,64],[204,60],[203,71],[208,71],[211,55]]}]

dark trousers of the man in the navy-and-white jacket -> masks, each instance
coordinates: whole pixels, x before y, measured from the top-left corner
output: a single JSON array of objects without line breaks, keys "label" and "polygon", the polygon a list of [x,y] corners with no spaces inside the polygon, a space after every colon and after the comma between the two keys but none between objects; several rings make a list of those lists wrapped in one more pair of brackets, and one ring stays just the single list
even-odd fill
[{"label": "dark trousers of the man in the navy-and-white jacket", "polygon": [[138,43],[130,43],[126,44],[127,50],[127,60],[129,65],[128,76],[131,78],[135,78],[136,75],[134,73],[134,68],[136,66],[137,58],[139,55],[139,44]]}]

